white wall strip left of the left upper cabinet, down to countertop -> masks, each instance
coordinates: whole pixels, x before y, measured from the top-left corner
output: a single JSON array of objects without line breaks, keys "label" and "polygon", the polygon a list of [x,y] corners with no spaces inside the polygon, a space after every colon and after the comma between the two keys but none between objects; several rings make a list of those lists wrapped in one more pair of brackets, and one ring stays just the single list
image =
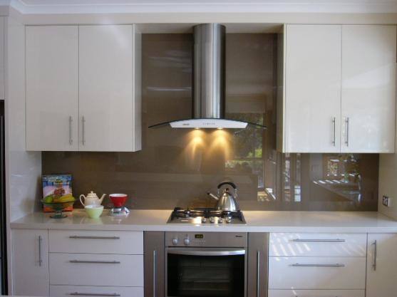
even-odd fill
[{"label": "white wall strip left of the left upper cabinet, down to countertop", "polygon": [[9,219],[38,209],[41,153],[25,151],[25,28],[6,18],[6,197]]}]

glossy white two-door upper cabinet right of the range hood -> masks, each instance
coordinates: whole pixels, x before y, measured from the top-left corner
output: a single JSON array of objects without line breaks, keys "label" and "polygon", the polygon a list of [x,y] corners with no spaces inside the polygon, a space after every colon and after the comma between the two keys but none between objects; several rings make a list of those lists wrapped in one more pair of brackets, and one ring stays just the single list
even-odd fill
[{"label": "glossy white two-door upper cabinet right of the range hood", "polygon": [[396,35],[396,26],[287,25],[278,150],[394,152]]}]

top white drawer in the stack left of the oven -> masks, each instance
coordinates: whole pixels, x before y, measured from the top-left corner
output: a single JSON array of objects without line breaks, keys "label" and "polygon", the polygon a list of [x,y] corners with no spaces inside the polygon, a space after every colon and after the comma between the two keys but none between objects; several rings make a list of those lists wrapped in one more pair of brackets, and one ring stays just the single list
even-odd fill
[{"label": "top white drawer in the stack left of the oven", "polygon": [[51,253],[143,254],[143,232],[50,230]]}]

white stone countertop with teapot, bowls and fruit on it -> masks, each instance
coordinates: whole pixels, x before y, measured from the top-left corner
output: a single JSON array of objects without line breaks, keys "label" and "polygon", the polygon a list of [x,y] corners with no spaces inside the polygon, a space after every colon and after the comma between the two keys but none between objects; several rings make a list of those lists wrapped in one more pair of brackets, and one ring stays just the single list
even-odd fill
[{"label": "white stone countertop with teapot, bowls and fruit on it", "polygon": [[50,214],[35,212],[11,222],[11,229],[397,233],[397,221],[378,212],[243,211],[247,224],[220,226],[167,224],[170,213],[171,210],[131,210],[128,217],[110,217],[105,210],[99,219],[89,219],[84,210],[77,209],[67,212],[65,219],[51,219]]}]

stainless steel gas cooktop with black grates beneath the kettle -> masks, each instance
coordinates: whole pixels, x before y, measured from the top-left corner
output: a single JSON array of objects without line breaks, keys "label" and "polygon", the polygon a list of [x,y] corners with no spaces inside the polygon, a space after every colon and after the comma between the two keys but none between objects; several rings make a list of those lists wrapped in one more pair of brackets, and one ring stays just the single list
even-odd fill
[{"label": "stainless steel gas cooktop with black grates beneath the kettle", "polygon": [[171,224],[245,224],[241,211],[225,212],[215,208],[187,208],[175,207],[167,223]]}]

